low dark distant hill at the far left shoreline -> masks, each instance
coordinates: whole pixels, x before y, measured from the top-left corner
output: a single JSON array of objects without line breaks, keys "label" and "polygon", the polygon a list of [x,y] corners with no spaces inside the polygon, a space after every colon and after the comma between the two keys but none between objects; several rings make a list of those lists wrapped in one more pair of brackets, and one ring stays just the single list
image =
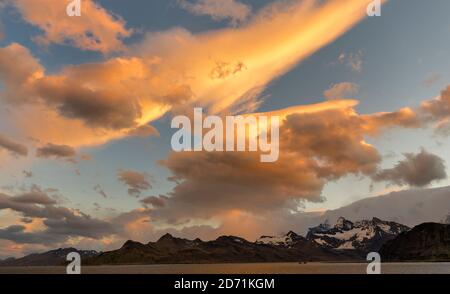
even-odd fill
[{"label": "low dark distant hill at the far left shoreline", "polygon": [[66,257],[71,252],[78,252],[81,261],[97,256],[93,250],[77,250],[75,248],[60,248],[45,253],[34,253],[22,258],[8,258],[0,261],[0,266],[58,266],[66,264]]}]

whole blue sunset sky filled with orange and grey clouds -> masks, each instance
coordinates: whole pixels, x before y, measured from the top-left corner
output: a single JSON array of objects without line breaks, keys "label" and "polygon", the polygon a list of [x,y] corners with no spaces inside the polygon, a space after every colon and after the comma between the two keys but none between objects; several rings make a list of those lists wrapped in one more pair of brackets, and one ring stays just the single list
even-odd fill
[{"label": "whole blue sunset sky filled with orange and grey clouds", "polygon": [[[0,0],[0,258],[254,239],[449,185],[446,0],[69,2]],[[173,152],[194,107],[281,114],[280,159]]]}]

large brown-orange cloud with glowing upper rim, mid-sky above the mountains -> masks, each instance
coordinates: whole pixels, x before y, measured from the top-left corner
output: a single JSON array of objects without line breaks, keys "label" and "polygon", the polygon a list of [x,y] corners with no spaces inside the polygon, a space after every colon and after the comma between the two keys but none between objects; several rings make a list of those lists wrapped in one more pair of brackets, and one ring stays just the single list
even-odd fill
[{"label": "large brown-orange cloud with glowing upper rim, mid-sky above the mountains", "polygon": [[271,164],[261,163],[258,153],[172,153],[161,164],[177,185],[152,216],[176,224],[224,211],[296,210],[303,201],[323,201],[328,181],[374,174],[381,155],[365,139],[391,124],[390,117],[359,115],[356,105],[332,100],[265,113],[282,121],[280,158]]}]

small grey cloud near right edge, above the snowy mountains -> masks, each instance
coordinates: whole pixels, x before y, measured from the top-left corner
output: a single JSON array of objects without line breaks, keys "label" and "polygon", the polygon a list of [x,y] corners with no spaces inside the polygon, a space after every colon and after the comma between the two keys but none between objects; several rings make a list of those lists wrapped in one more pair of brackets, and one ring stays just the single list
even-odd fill
[{"label": "small grey cloud near right edge, above the snowy mountains", "polygon": [[418,153],[407,153],[405,159],[399,161],[395,167],[384,169],[372,178],[395,185],[409,185],[425,187],[434,181],[447,178],[445,162],[437,155],[428,153],[424,149]]}]

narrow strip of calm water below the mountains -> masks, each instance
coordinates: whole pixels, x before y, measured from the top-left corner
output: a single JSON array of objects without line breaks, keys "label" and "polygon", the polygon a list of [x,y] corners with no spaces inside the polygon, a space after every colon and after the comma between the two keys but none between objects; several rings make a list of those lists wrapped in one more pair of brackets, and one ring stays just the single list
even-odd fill
[{"label": "narrow strip of calm water below the mountains", "polygon": [[[82,267],[84,274],[365,274],[356,263],[250,263]],[[384,274],[450,274],[450,263],[385,263]],[[0,274],[64,274],[64,267],[0,267]]]}]

